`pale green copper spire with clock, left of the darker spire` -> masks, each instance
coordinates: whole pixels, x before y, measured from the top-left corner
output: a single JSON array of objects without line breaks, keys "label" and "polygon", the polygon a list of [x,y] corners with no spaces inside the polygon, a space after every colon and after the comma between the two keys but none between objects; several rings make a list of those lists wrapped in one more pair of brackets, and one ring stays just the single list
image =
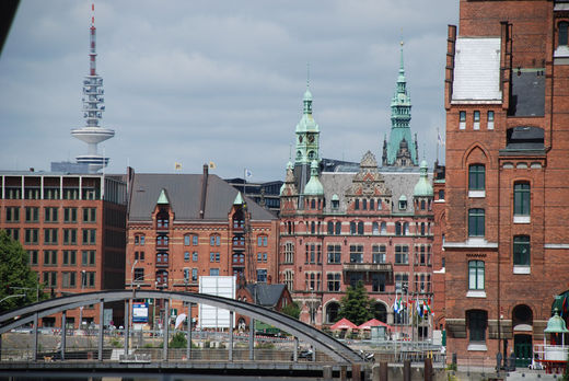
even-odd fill
[{"label": "pale green copper spire with clock, left of the darker spire", "polygon": [[306,80],[306,91],[304,92],[302,103],[302,117],[297,125],[294,164],[309,164],[312,160],[320,160],[320,128],[312,117],[310,79]]}]

